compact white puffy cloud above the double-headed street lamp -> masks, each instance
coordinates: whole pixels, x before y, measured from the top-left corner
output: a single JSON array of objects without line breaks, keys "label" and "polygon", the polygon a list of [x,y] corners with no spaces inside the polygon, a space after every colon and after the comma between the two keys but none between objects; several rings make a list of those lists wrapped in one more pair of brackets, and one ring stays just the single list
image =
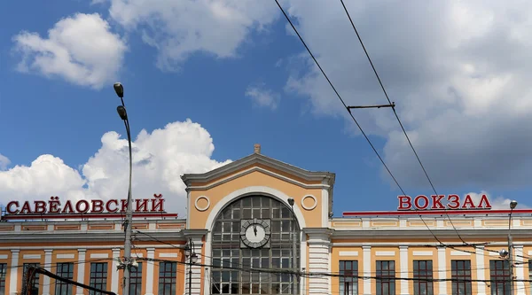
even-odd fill
[{"label": "compact white puffy cloud above the double-headed street lamp", "polygon": [[113,34],[97,13],[76,13],[59,20],[48,38],[21,32],[13,41],[22,54],[21,72],[59,76],[94,89],[114,82],[127,50],[120,35]]}]

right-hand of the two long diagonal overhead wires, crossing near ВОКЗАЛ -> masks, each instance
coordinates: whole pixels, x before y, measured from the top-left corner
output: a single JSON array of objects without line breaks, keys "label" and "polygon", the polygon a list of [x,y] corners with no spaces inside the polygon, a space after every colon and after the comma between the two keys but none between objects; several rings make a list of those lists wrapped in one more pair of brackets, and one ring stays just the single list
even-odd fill
[{"label": "right-hand of the two long diagonal overhead wires, crossing near \u0412\u041e\u041a\u0417\u0410\u041b", "polygon": [[[276,1],[277,1],[277,0],[276,0]],[[379,81],[380,89],[382,89],[382,92],[384,92],[384,96],[386,97],[388,103],[389,103],[390,105],[393,105],[392,102],[391,102],[391,100],[390,100],[390,97],[388,97],[388,94],[387,94],[386,89],[384,88],[384,84],[383,84],[382,81],[380,80],[379,74],[377,73],[377,69],[376,69],[375,66],[373,65],[372,58],[370,58],[370,54],[368,53],[368,50],[366,50],[366,48],[365,48],[365,46],[364,46],[364,42],[362,42],[362,38],[360,37],[360,34],[358,34],[358,30],[356,29],[355,22],[353,21],[353,19],[351,19],[351,15],[350,15],[349,12],[348,12],[348,8],[347,8],[346,5],[344,4],[343,0],[340,0],[340,3],[341,3],[341,5],[343,6],[344,11],[345,11],[346,14],[348,15],[349,22],[351,22],[351,27],[353,27],[353,30],[355,30],[356,37],[358,38],[358,41],[360,42],[360,45],[362,46],[362,49],[364,50],[364,53],[365,53],[365,55],[366,55],[366,58],[368,58],[368,61],[370,62],[370,65],[372,66],[373,73],[375,73],[375,76],[377,77],[377,80]],[[416,149],[414,148],[414,145],[413,145],[412,142],[411,142],[410,136],[408,136],[408,133],[407,133],[406,130],[404,129],[403,122],[401,122],[401,120],[399,119],[399,115],[398,115],[397,112],[395,111],[395,106],[392,106],[392,111],[394,112],[394,114],[395,114],[395,119],[397,119],[397,122],[399,122],[399,125],[401,126],[401,129],[403,129],[403,134],[404,134],[404,136],[406,137],[406,140],[408,141],[408,144],[410,145],[411,150],[414,152],[414,155],[416,156],[416,159],[418,159],[419,166],[421,166],[421,168],[423,169],[423,173],[425,173],[426,179],[428,180],[428,182],[430,183],[430,186],[431,186],[432,189],[434,190],[434,194],[435,194],[436,196],[439,196],[439,195],[438,195],[438,192],[437,192],[436,189],[434,188],[434,183],[432,182],[432,180],[431,180],[430,177],[428,176],[428,173],[426,172],[426,168],[425,168],[425,166],[423,165],[423,162],[421,162],[421,159],[419,159],[418,152],[417,152]],[[447,209],[444,209],[444,210],[447,210]],[[449,221],[450,221],[450,225],[452,226],[452,228],[453,228],[453,229],[455,230],[455,232],[457,233],[458,238],[460,239],[460,241],[462,241],[462,243],[464,243],[465,245],[469,245],[467,242],[465,242],[465,240],[462,238],[462,236],[460,236],[460,233],[458,233],[458,229],[457,229],[457,228],[455,227],[455,225],[452,223],[452,220],[450,219],[449,213],[445,213],[445,214],[447,215],[447,218],[448,218]]]}]

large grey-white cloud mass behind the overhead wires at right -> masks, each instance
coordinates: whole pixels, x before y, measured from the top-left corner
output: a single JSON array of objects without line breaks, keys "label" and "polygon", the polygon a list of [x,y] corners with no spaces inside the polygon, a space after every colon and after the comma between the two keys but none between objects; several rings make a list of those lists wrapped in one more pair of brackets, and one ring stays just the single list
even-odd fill
[{"label": "large grey-white cloud mass behind the overhead wires at right", "polygon": [[[387,103],[341,4],[310,2],[287,2],[286,11],[348,105]],[[436,187],[528,185],[532,17],[527,12],[532,4],[347,5]],[[316,113],[346,116],[308,54],[297,58],[306,70],[292,71],[286,89],[309,97]],[[425,175],[393,113],[354,114],[366,132],[386,139],[385,160],[398,181],[426,188]]]}]

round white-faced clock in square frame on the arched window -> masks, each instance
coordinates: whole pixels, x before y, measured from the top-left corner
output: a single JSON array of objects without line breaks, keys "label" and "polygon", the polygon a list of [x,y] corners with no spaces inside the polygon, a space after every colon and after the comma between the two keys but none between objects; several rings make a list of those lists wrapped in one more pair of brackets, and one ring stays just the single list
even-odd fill
[{"label": "round white-faced clock in square frame on the arched window", "polygon": [[240,247],[270,247],[270,220],[244,219],[240,221]]}]

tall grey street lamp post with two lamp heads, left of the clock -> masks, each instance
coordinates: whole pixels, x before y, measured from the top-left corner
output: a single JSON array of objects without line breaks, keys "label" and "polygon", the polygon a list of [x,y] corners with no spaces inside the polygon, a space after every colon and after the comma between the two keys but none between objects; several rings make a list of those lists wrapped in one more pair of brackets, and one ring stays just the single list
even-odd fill
[{"label": "tall grey street lamp post with two lamp heads, left of the clock", "polygon": [[131,202],[133,196],[131,192],[131,176],[133,170],[133,157],[131,155],[131,132],[129,129],[129,118],[128,113],[126,112],[126,105],[124,105],[124,87],[121,83],[114,83],[113,85],[114,92],[120,97],[121,105],[116,107],[116,111],[120,116],[121,120],[124,121],[124,126],[126,127],[126,133],[128,135],[128,146],[129,146],[129,189],[128,189],[128,207],[126,209],[126,220],[124,221],[124,230],[126,232],[126,237],[124,241],[124,277],[123,277],[123,292],[122,295],[129,295],[129,282],[130,282],[130,270],[131,270],[131,223],[133,223],[133,205]]}]

